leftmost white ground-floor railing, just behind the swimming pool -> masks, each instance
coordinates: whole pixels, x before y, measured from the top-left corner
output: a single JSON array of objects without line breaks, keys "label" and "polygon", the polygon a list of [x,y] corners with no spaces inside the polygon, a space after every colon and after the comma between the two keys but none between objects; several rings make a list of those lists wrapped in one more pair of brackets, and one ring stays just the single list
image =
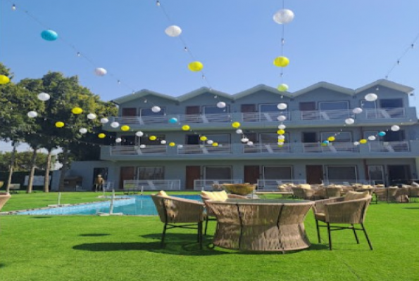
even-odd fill
[{"label": "leftmost white ground-floor railing, just behind the swimming pool", "polygon": [[180,190],[180,180],[125,180],[124,190]]}]

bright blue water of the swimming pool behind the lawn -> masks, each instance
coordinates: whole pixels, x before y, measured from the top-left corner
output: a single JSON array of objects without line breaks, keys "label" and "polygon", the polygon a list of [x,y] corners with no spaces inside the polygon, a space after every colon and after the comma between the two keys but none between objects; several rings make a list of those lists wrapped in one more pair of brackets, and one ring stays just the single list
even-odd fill
[{"label": "bright blue water of the swimming pool behind the lawn", "polygon": [[[187,198],[201,201],[199,195],[175,195],[175,197]],[[125,215],[157,215],[156,207],[149,195],[136,195],[124,197],[125,200],[115,200],[113,202],[113,213],[123,213]],[[95,202],[89,204],[79,204],[68,207],[46,208],[30,211],[20,211],[18,215],[94,215],[99,212],[108,213],[110,201]]]}]

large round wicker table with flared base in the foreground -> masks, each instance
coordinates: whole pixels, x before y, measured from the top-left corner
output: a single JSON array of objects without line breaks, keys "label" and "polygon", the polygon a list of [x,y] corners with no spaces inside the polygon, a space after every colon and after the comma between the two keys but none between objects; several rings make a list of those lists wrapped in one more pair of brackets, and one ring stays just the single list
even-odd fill
[{"label": "large round wicker table with flared base in the foreground", "polygon": [[228,199],[205,204],[217,218],[214,246],[282,252],[310,247],[304,218],[311,201]]}]

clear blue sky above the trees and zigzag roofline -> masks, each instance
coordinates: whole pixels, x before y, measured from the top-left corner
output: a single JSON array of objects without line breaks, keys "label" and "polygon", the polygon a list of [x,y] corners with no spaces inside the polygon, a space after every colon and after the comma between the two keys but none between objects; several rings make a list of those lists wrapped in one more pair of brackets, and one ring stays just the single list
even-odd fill
[{"label": "clear blue sky above the trees and zigzag roofline", "polygon": [[[282,82],[291,93],[319,81],[356,89],[383,79],[404,53],[388,79],[419,89],[419,40],[409,48],[419,34],[418,0],[160,2],[2,0],[0,62],[15,82],[58,71],[112,100],[142,89],[180,96],[210,86],[234,94]],[[295,18],[282,26],[273,15],[283,4]],[[169,25],[182,28],[206,79],[188,70],[192,58],[180,38],[165,34]],[[290,63],[281,78],[273,59],[281,55],[282,27]],[[58,40],[42,39],[46,29]],[[108,74],[96,76],[96,67]],[[413,96],[411,105],[418,103]]]}]

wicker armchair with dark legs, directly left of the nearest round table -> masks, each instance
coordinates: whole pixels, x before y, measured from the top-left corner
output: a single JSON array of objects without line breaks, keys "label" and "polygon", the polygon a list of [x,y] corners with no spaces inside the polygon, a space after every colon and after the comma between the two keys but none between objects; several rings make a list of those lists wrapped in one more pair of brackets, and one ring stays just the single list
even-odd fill
[{"label": "wicker armchair with dark legs, directly left of the nearest round table", "polygon": [[156,205],[161,222],[164,223],[163,234],[161,235],[162,247],[164,247],[166,230],[170,228],[189,228],[198,230],[199,248],[202,249],[202,222],[205,219],[203,203],[171,196],[151,195],[151,199]]}]

